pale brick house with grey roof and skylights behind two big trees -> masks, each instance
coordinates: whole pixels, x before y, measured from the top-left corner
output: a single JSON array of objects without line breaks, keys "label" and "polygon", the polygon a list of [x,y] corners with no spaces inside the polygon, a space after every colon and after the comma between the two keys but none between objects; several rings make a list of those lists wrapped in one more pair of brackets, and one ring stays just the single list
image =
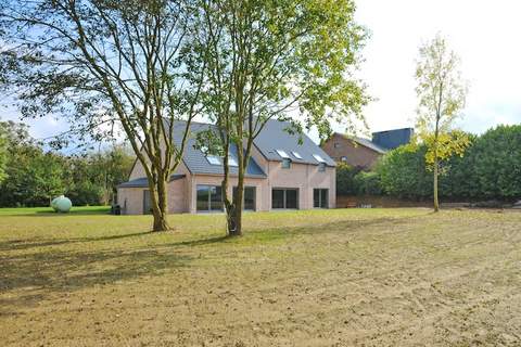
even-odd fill
[{"label": "pale brick house with grey roof and skylights behind two big trees", "polygon": [[[174,127],[180,139],[183,124]],[[178,213],[223,211],[223,158],[195,147],[194,136],[213,126],[192,123],[179,167],[168,182],[168,209]],[[289,123],[269,120],[254,141],[244,179],[244,209],[310,209],[335,206],[335,163],[315,142],[290,134]],[[177,133],[176,133],[177,132]],[[230,150],[230,191],[237,185],[237,147]],[[136,162],[128,182],[117,187],[122,214],[150,211],[148,179]]]}]

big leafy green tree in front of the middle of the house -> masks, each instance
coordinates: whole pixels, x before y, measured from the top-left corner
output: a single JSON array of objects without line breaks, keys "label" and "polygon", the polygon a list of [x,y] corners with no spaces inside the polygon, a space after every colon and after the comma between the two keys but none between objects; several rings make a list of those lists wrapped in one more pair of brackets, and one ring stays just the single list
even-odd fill
[{"label": "big leafy green tree in front of the middle of the house", "polygon": [[[365,88],[353,77],[366,38],[352,0],[200,0],[192,53],[208,66],[203,100],[224,157],[228,233],[242,233],[244,175],[255,138],[270,119],[288,131],[363,120]],[[201,52],[207,52],[202,54]],[[201,65],[202,63],[200,63]],[[214,141],[215,140],[215,141]],[[237,147],[238,184],[228,196],[230,147]]]}]

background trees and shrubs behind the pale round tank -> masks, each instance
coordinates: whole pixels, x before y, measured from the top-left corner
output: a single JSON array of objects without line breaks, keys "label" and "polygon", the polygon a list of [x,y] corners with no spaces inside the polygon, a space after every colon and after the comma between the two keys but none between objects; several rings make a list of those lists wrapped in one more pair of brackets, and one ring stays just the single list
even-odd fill
[{"label": "background trees and shrubs behind the pale round tank", "polygon": [[61,194],[75,206],[109,205],[132,164],[123,144],[65,155],[47,151],[27,126],[0,121],[0,207],[49,206]]}]

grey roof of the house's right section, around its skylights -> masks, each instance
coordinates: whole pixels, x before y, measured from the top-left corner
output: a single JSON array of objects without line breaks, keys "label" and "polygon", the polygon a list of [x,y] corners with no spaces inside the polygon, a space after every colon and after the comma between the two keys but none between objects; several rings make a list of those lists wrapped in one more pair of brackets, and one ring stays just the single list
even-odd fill
[{"label": "grey roof of the house's right section, around its skylights", "polygon": [[[268,160],[282,162],[277,150],[284,151],[294,163],[318,165],[320,162],[314,155],[319,155],[328,166],[335,166],[331,157],[305,133],[289,133],[291,124],[288,121],[268,120],[265,128],[255,139],[254,144]],[[302,139],[302,143],[298,143]],[[293,152],[301,155],[297,158]]]}]

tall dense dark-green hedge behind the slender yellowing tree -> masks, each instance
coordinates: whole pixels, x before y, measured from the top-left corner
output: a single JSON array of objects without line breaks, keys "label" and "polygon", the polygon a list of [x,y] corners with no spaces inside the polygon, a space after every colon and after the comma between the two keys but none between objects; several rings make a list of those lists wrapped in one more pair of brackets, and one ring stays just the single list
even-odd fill
[{"label": "tall dense dark-green hedge behind the slender yellowing tree", "polygon": [[[459,155],[442,154],[441,196],[456,200],[521,197],[521,126],[499,126],[481,137],[453,132],[450,140],[442,140],[442,147],[447,144],[448,152],[459,152]],[[460,145],[465,146],[465,155],[461,155]],[[425,157],[432,160],[429,151],[428,145],[421,143],[385,154],[377,167],[383,190],[396,196],[432,196],[432,164],[424,160]]]}]

